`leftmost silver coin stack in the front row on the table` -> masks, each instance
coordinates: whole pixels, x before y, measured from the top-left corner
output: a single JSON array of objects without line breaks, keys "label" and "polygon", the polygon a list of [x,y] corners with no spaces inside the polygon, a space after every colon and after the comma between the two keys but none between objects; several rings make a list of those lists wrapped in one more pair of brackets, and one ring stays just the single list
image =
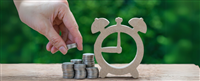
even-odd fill
[{"label": "leftmost silver coin stack in the front row on the table", "polygon": [[64,62],[62,64],[63,78],[73,78],[74,77],[74,63]]}]

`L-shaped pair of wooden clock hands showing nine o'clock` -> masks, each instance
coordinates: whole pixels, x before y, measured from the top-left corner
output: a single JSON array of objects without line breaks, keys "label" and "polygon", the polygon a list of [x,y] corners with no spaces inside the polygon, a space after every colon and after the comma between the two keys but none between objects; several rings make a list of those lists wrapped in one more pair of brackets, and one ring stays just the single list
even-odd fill
[{"label": "L-shaped pair of wooden clock hands showing nine o'clock", "polygon": [[121,47],[121,40],[120,40],[120,32],[118,32],[117,36],[117,47],[111,46],[111,47],[102,47],[101,51],[102,52],[107,52],[107,53],[118,53],[120,54],[122,52],[122,47]]}]

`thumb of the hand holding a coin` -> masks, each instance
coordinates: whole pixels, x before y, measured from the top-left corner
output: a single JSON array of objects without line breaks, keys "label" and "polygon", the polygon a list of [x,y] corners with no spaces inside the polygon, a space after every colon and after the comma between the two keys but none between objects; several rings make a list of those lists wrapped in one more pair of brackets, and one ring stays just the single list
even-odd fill
[{"label": "thumb of the hand holding a coin", "polygon": [[48,30],[45,33],[45,36],[49,40],[49,42],[55,46],[62,54],[67,53],[67,47],[64,40],[60,37],[60,35],[55,31],[50,21],[45,20],[45,26]]}]

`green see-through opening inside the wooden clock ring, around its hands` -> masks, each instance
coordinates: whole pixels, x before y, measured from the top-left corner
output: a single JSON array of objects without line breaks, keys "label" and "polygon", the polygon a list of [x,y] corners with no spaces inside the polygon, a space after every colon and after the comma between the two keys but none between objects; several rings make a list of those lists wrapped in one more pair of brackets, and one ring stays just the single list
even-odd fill
[{"label": "green see-through opening inside the wooden clock ring, around its hands", "polygon": [[[117,32],[112,33],[108,35],[102,42],[102,47],[117,47]],[[121,53],[107,53],[107,52],[101,52],[103,58],[106,62],[109,64],[115,64],[115,63],[130,63],[136,55],[137,47],[134,39],[129,36],[126,33],[121,32],[120,33],[120,40],[121,40]],[[113,65],[115,66],[115,65]]]}]

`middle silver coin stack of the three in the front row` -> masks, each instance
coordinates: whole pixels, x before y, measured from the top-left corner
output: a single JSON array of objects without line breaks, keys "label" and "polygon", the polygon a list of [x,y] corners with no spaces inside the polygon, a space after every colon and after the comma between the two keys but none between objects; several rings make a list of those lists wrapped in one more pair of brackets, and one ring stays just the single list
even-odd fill
[{"label": "middle silver coin stack of the three in the front row", "polygon": [[74,64],[75,70],[75,79],[84,79],[86,78],[86,65],[85,64]]}]

